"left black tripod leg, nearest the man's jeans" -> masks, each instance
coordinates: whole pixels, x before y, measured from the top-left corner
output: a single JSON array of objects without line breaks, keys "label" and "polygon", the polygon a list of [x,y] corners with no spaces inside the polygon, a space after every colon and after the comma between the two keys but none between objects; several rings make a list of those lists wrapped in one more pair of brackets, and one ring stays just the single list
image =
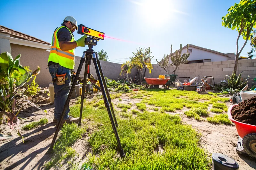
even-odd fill
[{"label": "left black tripod leg, nearest the man's jeans", "polygon": [[[84,51],[84,54],[83,54],[83,56],[82,56],[82,58],[81,58],[81,60],[80,60],[80,64],[79,64],[79,66],[78,66],[78,69],[77,69],[77,71],[76,71],[76,76],[75,76],[75,78],[74,78],[74,82],[76,82],[77,79],[78,79],[78,77],[79,77],[80,71],[81,71],[81,69],[82,69],[82,67],[83,67],[83,64],[84,64],[84,61],[85,61],[85,51]],[[72,92],[73,92],[74,89],[75,89],[75,86],[76,86],[76,83],[73,83],[72,86],[71,86],[71,89],[70,89],[70,91],[69,91],[69,93],[68,93],[68,99],[66,100],[65,105],[64,105],[64,108],[63,108],[63,110],[62,110],[61,117],[60,117],[60,121],[59,121],[59,123],[58,123],[58,125],[57,125],[57,129],[56,129],[56,131],[55,131],[55,134],[54,134],[54,137],[53,137],[53,139],[52,139],[52,143],[51,143],[51,146],[50,146],[50,148],[49,148],[49,150],[48,150],[48,153],[52,152],[53,145],[54,145],[55,140],[56,140],[56,138],[57,138],[57,135],[58,135],[58,133],[59,133],[60,126],[61,126],[61,124],[62,124],[62,120],[63,120],[63,118],[64,118],[65,112],[66,112],[67,107],[68,107],[68,105],[69,105],[69,101],[70,101],[70,99],[71,99],[71,95],[72,95]]]}]

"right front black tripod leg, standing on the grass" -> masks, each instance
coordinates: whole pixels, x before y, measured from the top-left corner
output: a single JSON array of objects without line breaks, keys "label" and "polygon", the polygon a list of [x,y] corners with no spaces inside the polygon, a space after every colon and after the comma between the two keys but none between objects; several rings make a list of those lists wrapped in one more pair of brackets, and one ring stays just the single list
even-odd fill
[{"label": "right front black tripod leg, standing on the grass", "polygon": [[121,142],[120,142],[117,130],[116,130],[115,122],[114,122],[112,114],[111,114],[110,105],[109,105],[109,102],[108,102],[108,99],[107,99],[107,96],[106,96],[106,92],[105,92],[105,89],[102,88],[102,87],[104,87],[104,85],[103,85],[102,79],[100,77],[100,71],[99,71],[99,67],[97,65],[97,60],[96,60],[95,53],[92,54],[92,61],[94,63],[95,70],[96,70],[96,73],[97,73],[97,76],[98,76],[98,79],[99,79],[99,82],[100,82],[101,93],[102,93],[102,96],[103,96],[103,99],[104,99],[105,106],[106,106],[106,108],[108,110],[108,116],[109,116],[112,128],[114,130],[114,134],[115,134],[115,137],[116,137],[117,147],[118,147],[120,156],[121,157],[125,157],[124,149],[122,148],[122,145],[121,145]]}]

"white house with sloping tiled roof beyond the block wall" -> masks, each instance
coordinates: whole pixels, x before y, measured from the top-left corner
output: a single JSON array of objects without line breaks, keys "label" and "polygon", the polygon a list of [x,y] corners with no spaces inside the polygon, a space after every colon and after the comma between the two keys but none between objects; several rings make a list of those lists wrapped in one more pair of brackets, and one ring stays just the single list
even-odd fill
[{"label": "white house with sloping tiled roof beyond the block wall", "polygon": [[[179,50],[178,50],[179,51]],[[187,45],[182,48],[182,52],[187,52]],[[214,61],[227,61],[235,60],[235,53],[221,53],[207,48],[198,47],[192,44],[188,44],[188,63],[204,63],[204,62],[214,62]],[[175,54],[175,51],[174,53]],[[171,59],[169,60],[172,62]]]}]

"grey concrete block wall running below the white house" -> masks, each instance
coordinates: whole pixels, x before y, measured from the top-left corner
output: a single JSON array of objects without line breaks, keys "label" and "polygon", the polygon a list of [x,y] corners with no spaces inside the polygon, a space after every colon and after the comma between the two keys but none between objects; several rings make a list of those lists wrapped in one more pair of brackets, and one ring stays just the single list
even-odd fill
[{"label": "grey concrete block wall running below the white house", "polygon": [[[221,80],[225,80],[226,75],[231,75],[235,66],[235,60],[218,61],[218,62],[206,62],[206,63],[191,63],[182,64],[176,70],[179,80],[184,78],[179,77],[198,77],[200,79],[204,76],[213,76],[215,83],[219,83]],[[167,67],[166,70],[172,74],[174,66]],[[249,75],[251,79],[256,77],[256,59],[238,60],[238,68],[236,74],[242,73],[242,78],[247,78]],[[153,64],[153,70],[151,74],[146,74],[145,77],[157,78],[160,74],[167,74],[158,64]]]}]

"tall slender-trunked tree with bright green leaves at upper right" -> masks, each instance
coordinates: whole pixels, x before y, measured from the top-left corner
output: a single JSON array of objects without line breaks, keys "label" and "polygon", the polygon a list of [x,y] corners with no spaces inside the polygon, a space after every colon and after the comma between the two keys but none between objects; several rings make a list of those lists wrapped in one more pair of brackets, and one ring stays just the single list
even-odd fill
[{"label": "tall slender-trunked tree with bright green leaves at upper right", "polygon": [[[236,39],[236,62],[234,73],[236,73],[238,65],[238,57],[241,54],[248,39],[252,36],[252,28],[256,28],[256,0],[241,0],[239,4],[235,3],[228,9],[228,14],[222,17],[222,26],[236,29],[238,37]],[[245,40],[243,47],[238,50],[238,41],[240,36]],[[239,52],[238,52],[239,51]]]}]

